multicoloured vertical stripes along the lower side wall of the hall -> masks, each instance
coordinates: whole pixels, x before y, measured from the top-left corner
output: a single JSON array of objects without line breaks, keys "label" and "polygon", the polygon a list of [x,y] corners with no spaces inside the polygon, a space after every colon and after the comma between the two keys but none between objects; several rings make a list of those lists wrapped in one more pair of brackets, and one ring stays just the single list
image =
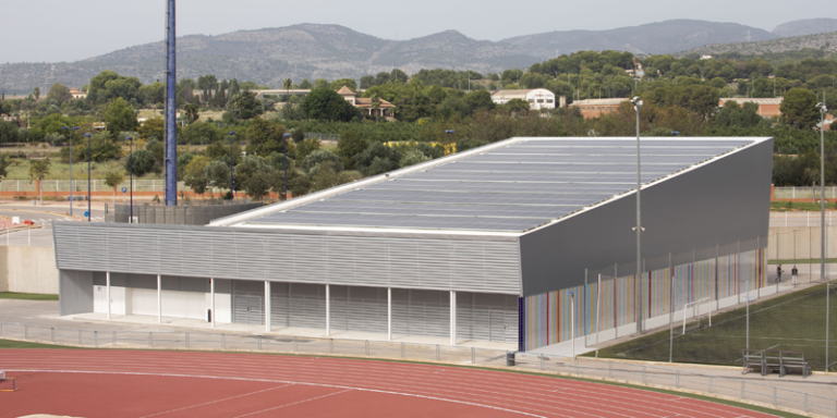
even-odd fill
[{"label": "multicoloured vertical stripes along the lower side wall of the hall", "polygon": [[[717,274],[716,274],[717,271]],[[718,300],[767,285],[765,249],[694,261],[643,273],[647,288],[642,300],[644,317],[654,318],[683,309],[702,299]],[[717,275],[717,278],[716,278]],[[596,278],[587,285],[521,297],[519,302],[519,349],[530,351],[568,341],[572,336],[574,294],[575,337],[596,332],[596,297],[602,304],[598,331],[635,322],[636,276],[605,278],[599,290]]]}]

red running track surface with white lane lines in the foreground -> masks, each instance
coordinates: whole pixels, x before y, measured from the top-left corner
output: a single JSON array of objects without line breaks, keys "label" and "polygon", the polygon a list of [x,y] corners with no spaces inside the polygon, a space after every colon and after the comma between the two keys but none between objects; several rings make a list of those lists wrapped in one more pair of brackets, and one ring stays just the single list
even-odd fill
[{"label": "red running track surface with white lane lines in the foreground", "polygon": [[0,417],[772,417],[601,383],[256,354],[3,349]]}]

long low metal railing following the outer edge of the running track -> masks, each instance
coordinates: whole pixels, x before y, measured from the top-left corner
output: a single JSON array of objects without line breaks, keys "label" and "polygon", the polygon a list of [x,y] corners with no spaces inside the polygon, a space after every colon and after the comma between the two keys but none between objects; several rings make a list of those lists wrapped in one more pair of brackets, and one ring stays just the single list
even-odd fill
[{"label": "long low metal railing following the outer edge of the running track", "polygon": [[[207,332],[95,331],[0,322],[0,337],[86,347],[166,348],[301,353],[378,357],[454,365],[505,367],[507,353],[499,349],[381,342],[369,340],[313,339]],[[674,388],[716,397],[747,401],[779,409],[837,417],[837,399],[773,386],[750,380],[683,372],[675,367],[608,361],[580,357],[550,358],[518,353],[515,369],[561,373],[656,388]]]}]

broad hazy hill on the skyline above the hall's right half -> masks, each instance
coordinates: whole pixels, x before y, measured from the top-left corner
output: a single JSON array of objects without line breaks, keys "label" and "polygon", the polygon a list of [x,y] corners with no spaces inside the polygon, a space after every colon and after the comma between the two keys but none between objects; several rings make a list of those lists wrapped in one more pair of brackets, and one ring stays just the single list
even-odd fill
[{"label": "broad hazy hill on the skyline above the hall's right half", "polygon": [[[748,38],[749,37],[749,38]],[[671,53],[706,44],[775,39],[776,35],[737,23],[674,20],[610,30],[567,30],[504,39],[544,58],[581,50],[642,54]]]}]

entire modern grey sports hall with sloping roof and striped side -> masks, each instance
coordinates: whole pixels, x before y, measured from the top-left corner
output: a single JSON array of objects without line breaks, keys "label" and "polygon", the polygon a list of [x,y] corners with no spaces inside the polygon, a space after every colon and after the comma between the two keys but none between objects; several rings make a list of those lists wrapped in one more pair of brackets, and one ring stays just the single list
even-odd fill
[{"label": "entire modern grey sports hall with sloping roof and striped side", "polygon": [[[626,325],[635,321],[634,273],[617,272],[628,280],[607,290],[585,274],[635,261],[635,146],[511,138],[207,226],[56,222],[60,315],[530,351],[570,339],[573,292],[579,333],[591,331],[581,318],[593,295],[609,318],[604,329]],[[716,249],[688,266],[646,266],[644,318],[667,317],[671,300],[652,297],[667,283],[679,302],[703,297],[684,290],[709,282],[715,298],[739,294],[743,280],[765,284],[766,239],[757,238],[767,235],[772,156],[772,138],[642,139],[643,255]]]}]

